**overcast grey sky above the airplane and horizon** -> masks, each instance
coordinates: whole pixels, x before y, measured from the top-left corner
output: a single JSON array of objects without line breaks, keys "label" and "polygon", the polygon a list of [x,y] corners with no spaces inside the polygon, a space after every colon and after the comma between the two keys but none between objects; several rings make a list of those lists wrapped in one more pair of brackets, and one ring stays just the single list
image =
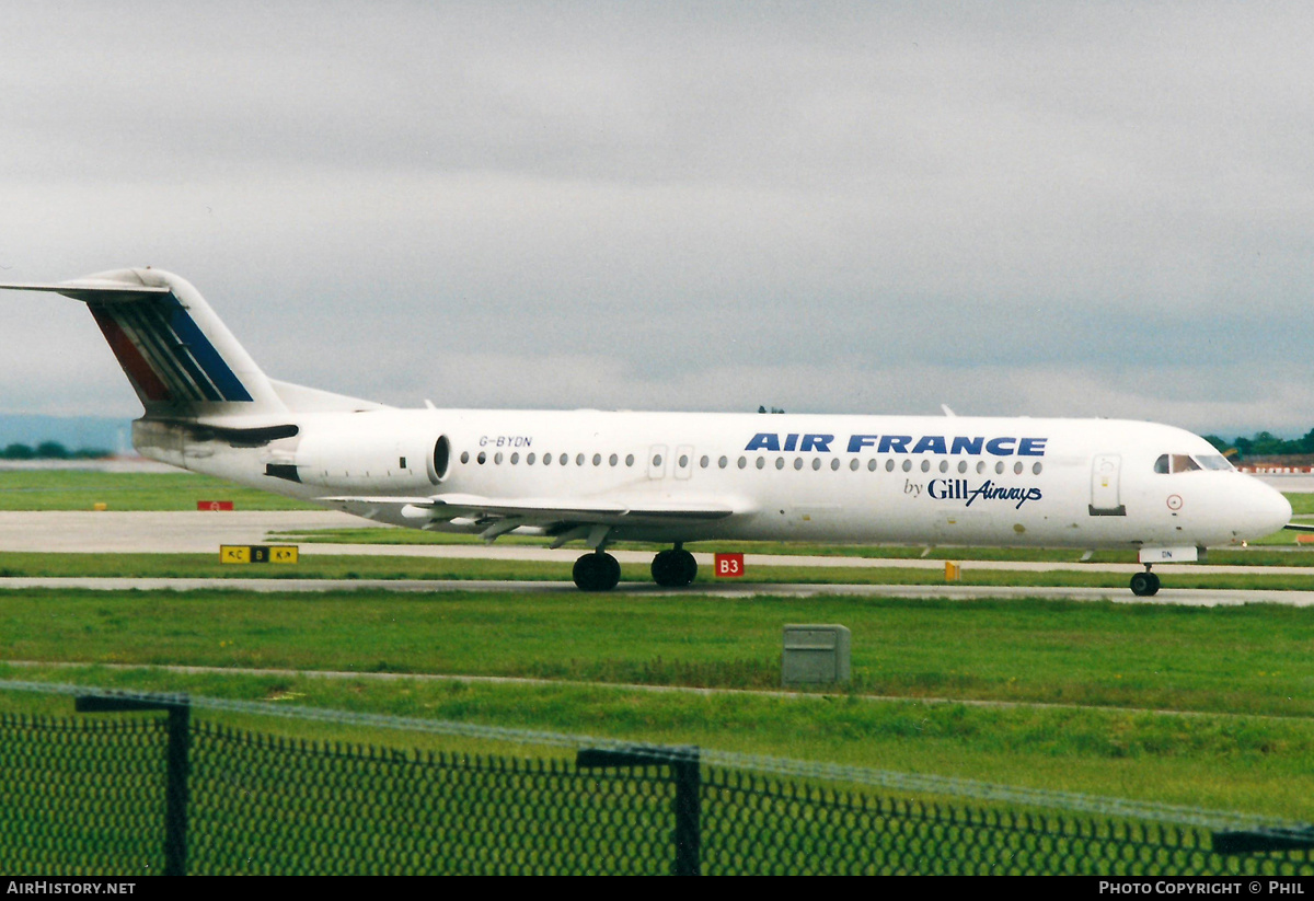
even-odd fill
[{"label": "overcast grey sky above the airplane and horizon", "polygon": [[[193,7],[0,0],[0,278],[398,406],[1314,427],[1307,5]],[[141,406],[5,293],[0,412]]]}]

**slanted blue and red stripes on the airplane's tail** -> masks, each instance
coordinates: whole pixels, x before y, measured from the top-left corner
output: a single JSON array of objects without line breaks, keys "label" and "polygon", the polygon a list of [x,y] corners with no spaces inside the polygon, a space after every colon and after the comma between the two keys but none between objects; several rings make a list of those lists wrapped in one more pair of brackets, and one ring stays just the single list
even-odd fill
[{"label": "slanted blue and red stripes on the airplane's tail", "polygon": [[143,399],[251,401],[251,393],[173,294],[91,302],[92,315]]}]

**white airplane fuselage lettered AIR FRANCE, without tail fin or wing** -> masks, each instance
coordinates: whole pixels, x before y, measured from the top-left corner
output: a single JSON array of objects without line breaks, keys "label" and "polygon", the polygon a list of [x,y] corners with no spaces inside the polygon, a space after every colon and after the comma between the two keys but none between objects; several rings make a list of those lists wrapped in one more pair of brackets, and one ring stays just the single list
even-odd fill
[{"label": "white airplane fuselage lettered AIR FRANCE, without tail fin or wing", "polygon": [[[135,440],[143,454],[185,469],[452,532],[478,533],[485,523],[326,498],[732,511],[706,521],[614,517],[610,540],[650,541],[1180,548],[1257,538],[1288,516],[1280,495],[1222,464],[1202,439],[1141,422],[392,408],[293,422],[297,435],[256,448],[152,423]],[[1166,454],[1218,468],[1156,472]]]}]

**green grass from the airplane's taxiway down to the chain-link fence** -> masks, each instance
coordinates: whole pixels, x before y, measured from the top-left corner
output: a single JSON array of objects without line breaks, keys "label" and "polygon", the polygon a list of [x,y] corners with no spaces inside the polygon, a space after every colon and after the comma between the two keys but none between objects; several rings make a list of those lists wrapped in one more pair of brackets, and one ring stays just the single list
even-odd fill
[{"label": "green grass from the airplane's taxiway down to the chain-link fence", "polygon": [[[853,630],[848,693],[762,691],[777,684],[781,625],[792,621]],[[0,670],[8,678],[694,742],[1314,820],[1314,612],[1297,608],[13,591],[0,598],[0,636],[7,659],[88,665]],[[105,663],[548,683],[181,675],[97,666]],[[628,683],[745,692],[653,693]],[[928,703],[940,697],[959,701]],[[67,699],[14,693],[0,703],[68,708]],[[319,737],[326,729],[276,728]]]}]

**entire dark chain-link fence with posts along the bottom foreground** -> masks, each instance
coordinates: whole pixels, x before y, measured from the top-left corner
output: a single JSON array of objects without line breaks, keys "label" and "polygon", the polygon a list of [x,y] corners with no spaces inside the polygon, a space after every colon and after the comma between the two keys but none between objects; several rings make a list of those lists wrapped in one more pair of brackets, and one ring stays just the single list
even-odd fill
[{"label": "entire dark chain-link fence with posts along the bottom foreground", "polygon": [[1290,825],[936,804],[696,749],[611,743],[570,762],[292,741],[159,705],[168,717],[0,716],[8,871],[1314,875],[1314,842]]}]

